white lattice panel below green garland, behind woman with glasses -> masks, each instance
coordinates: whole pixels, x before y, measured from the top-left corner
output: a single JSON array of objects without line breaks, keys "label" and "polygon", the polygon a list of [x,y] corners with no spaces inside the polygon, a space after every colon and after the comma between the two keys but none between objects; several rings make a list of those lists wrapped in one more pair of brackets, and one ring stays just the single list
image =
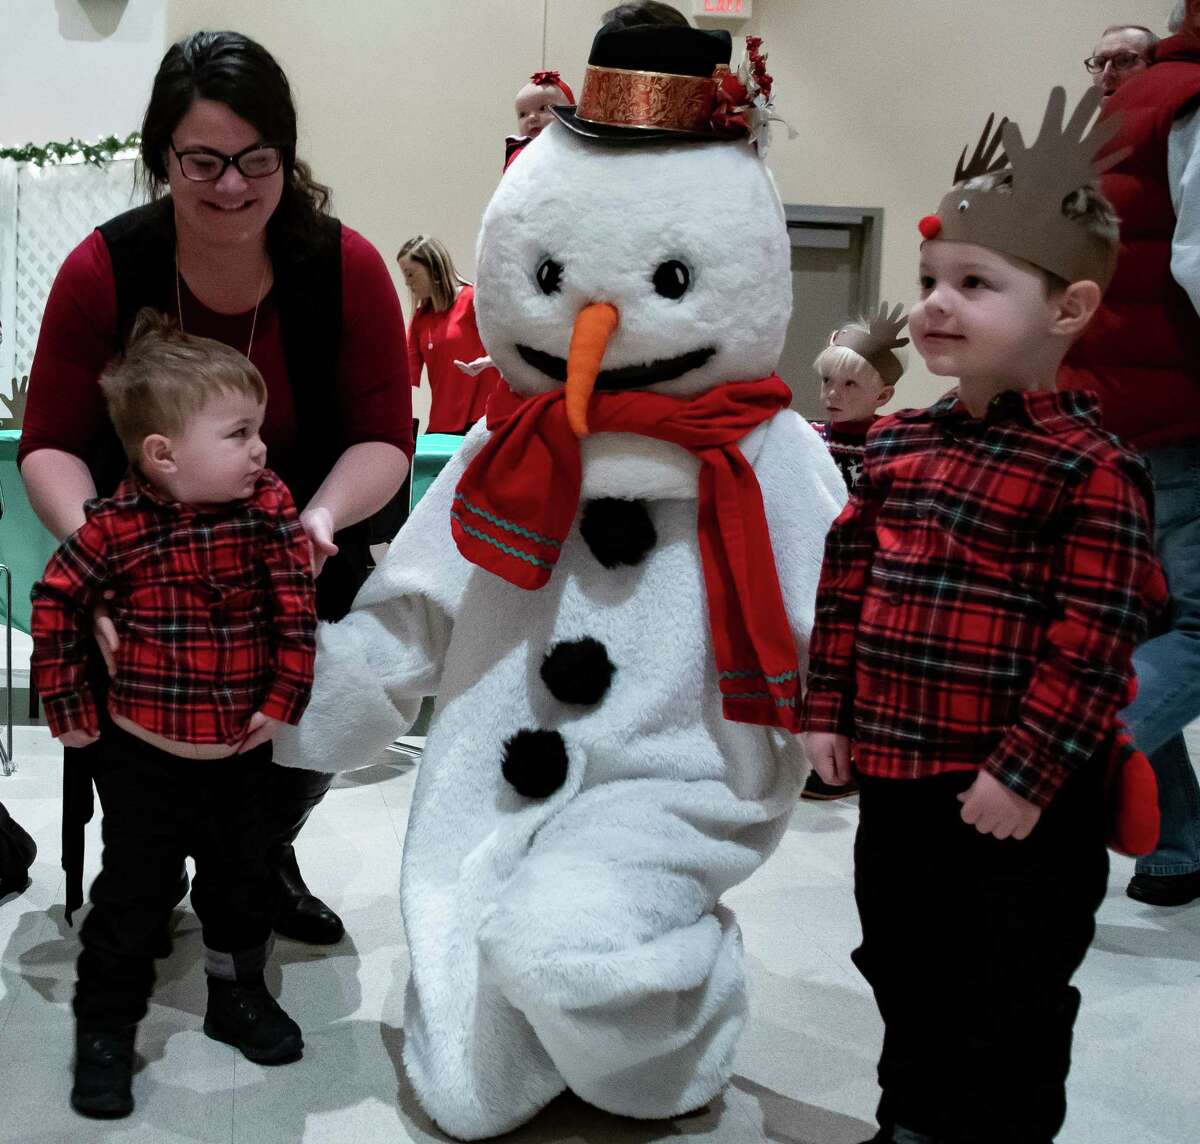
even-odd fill
[{"label": "white lattice panel below green garland, behind woman with glasses", "polygon": [[[104,167],[64,163],[22,167],[17,172],[14,250],[11,275],[0,265],[0,321],[4,355],[0,385],[8,391],[11,377],[29,372],[37,347],[46,299],[62,259],[98,223],[142,202],[134,191],[133,158]],[[12,198],[11,194],[5,199]],[[6,203],[0,202],[0,210]],[[6,221],[0,218],[0,230]],[[11,232],[10,232],[11,233]]]}]

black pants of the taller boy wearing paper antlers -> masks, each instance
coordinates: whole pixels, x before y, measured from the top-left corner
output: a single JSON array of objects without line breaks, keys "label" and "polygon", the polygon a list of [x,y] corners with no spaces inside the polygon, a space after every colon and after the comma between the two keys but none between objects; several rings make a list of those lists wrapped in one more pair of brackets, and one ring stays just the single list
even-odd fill
[{"label": "black pants of the taller boy wearing paper antlers", "polygon": [[854,962],[886,1024],[880,1122],[948,1144],[1044,1144],[1066,1114],[1070,977],[1108,879],[1098,768],[1024,841],[979,834],[971,774],[862,784]]}]

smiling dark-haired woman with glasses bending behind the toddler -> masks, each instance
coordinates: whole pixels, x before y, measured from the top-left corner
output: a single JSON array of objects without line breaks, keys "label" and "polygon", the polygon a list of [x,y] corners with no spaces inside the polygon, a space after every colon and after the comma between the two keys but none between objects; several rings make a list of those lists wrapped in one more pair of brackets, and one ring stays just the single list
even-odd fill
[{"label": "smiling dark-haired woman with glasses bending behind the toddler", "polygon": [[[328,214],[329,191],[295,145],[288,80],[265,48],[236,32],[196,32],[167,52],[142,127],[151,202],[98,227],[60,269],[19,462],[35,510],[59,539],[83,523],[86,499],[113,492],[125,459],[97,379],[138,310],[154,306],[188,334],[239,349],[266,381],[262,436],[302,509],[318,612],[336,619],[367,574],[366,517],[408,471],[412,400],[386,265]],[[96,636],[104,651],[119,633],[100,616]],[[67,750],[64,768],[68,917],[82,900],[94,750]],[[292,843],[331,778],[272,767],[264,822],[281,880],[275,929],[317,944],[340,940],[342,922],[308,891]],[[181,874],[180,897],[186,890]]]}]

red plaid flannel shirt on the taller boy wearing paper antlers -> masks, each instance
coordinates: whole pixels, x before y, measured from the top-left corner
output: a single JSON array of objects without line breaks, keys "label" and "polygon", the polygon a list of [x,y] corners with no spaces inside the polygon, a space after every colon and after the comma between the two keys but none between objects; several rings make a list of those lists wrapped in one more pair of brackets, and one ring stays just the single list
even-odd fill
[{"label": "red plaid flannel shirt on the taller boy wearing paper antlers", "polygon": [[985,767],[1045,807],[1110,739],[1166,588],[1145,466],[1085,393],[883,418],[826,541],[803,726],[916,779]]}]

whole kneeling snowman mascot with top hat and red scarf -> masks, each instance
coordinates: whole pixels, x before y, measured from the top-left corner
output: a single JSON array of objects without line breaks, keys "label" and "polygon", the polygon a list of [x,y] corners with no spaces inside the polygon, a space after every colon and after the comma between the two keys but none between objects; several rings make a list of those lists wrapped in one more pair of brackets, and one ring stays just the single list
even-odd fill
[{"label": "whole kneeling snowman mascot with top hat and red scarf", "polygon": [[461,1139],[566,1088],[696,1109],[745,1023],[720,899],[804,777],[846,491],[773,372],[788,240],[746,130],[769,77],[728,59],[727,32],[601,29],[580,107],[505,174],[476,311],[510,388],[323,625],[288,745],[361,765],[438,696],[401,875],[404,1065]]}]

